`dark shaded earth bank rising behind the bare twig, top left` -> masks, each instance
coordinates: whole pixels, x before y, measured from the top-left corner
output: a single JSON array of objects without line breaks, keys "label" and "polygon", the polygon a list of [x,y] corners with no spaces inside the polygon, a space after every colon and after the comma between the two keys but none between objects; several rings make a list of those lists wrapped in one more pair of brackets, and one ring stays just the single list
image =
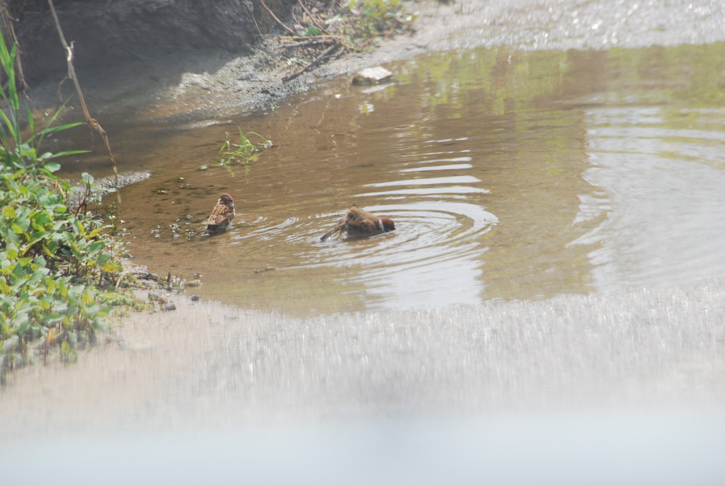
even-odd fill
[{"label": "dark shaded earth bank rising behind the bare twig, top left", "polygon": [[[157,63],[173,57],[183,64],[191,51],[249,53],[273,25],[259,1],[115,0],[56,1],[67,41],[74,43],[80,72],[128,62]],[[265,0],[280,17],[294,0]],[[65,72],[65,52],[46,0],[7,1],[30,83]]]}]

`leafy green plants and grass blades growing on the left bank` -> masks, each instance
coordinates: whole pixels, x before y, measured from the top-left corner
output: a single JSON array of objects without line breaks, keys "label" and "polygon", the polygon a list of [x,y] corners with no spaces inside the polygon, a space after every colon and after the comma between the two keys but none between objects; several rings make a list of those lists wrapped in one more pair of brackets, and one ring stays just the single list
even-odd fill
[{"label": "leafy green plants and grass blades growing on the left bank", "polygon": [[[0,378],[8,369],[47,355],[57,345],[65,360],[78,343],[93,341],[107,327],[110,303],[128,303],[113,290],[122,266],[111,226],[87,210],[100,196],[91,175],[80,184],[54,174],[56,159],[78,151],[41,152],[43,138],[80,125],[21,128],[14,72],[15,46],[0,36],[0,63],[7,88],[0,88]],[[23,130],[24,129],[24,130]],[[27,133],[27,135],[24,135]]]}]

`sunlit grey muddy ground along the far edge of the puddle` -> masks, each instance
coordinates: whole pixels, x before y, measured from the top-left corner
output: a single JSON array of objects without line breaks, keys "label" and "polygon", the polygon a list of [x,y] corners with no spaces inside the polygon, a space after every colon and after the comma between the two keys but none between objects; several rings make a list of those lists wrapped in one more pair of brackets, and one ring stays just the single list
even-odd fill
[{"label": "sunlit grey muddy ground along the far edge of the puddle", "polygon": [[[163,2],[150,2],[150,6],[159,3]],[[347,51],[289,83],[282,79],[295,69],[288,63],[294,54],[279,42],[283,30],[261,12],[255,13],[254,18],[257,22],[266,22],[270,34],[265,34],[246,54],[235,54],[224,41],[219,42],[225,49],[208,41],[194,42],[201,35],[197,33],[188,37],[191,43],[187,39],[182,44],[186,49],[181,52],[171,50],[166,55],[146,59],[125,56],[120,64],[94,64],[81,70],[81,84],[91,112],[99,115],[101,122],[104,118],[123,122],[188,122],[268,110],[291,93],[313,88],[320,76],[346,75],[362,67],[426,51],[476,46],[610,49],[725,40],[725,26],[721,22],[725,6],[718,1],[693,7],[687,3],[664,5],[661,2],[604,5],[553,0],[452,3],[421,0],[409,2],[405,9],[417,16],[415,32],[380,39],[373,51]],[[283,20],[289,22],[287,17]],[[248,44],[244,46],[249,49]],[[36,108],[49,109],[58,106],[60,99],[70,98],[73,109],[72,86],[65,83],[59,93],[61,78],[33,85],[30,96]],[[79,117],[80,112],[75,111],[78,112],[75,117]]]}]

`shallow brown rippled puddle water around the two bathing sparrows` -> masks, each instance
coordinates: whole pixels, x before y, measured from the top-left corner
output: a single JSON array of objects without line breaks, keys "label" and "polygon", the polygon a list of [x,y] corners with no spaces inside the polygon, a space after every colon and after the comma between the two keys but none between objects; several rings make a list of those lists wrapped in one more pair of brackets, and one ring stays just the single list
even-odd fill
[{"label": "shallow brown rippled puddle water around the two bathing sparrows", "polygon": [[[257,117],[120,128],[122,170],[151,176],[120,190],[117,214],[138,264],[293,314],[725,277],[724,54],[451,51]],[[213,164],[237,127],[274,146],[232,175]],[[199,222],[221,192],[236,219],[209,237]],[[397,230],[320,243],[352,204]]]}]

